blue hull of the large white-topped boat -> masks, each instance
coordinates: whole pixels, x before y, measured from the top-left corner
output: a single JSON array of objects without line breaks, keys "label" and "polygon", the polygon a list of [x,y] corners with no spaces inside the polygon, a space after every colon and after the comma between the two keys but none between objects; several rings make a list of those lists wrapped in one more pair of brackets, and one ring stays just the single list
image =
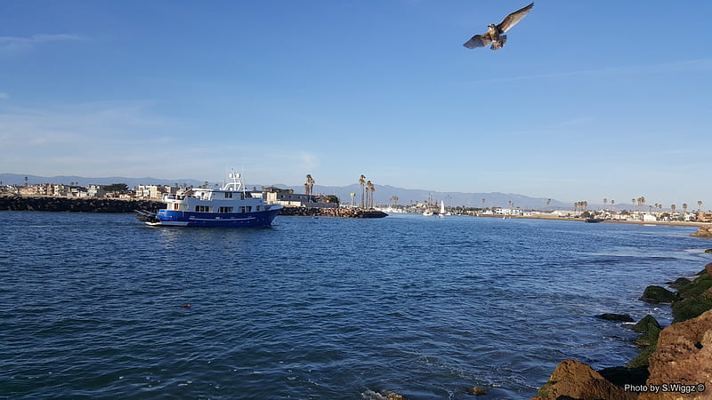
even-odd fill
[{"label": "blue hull of the large white-topped boat", "polygon": [[281,207],[261,212],[179,212],[158,210],[156,220],[146,221],[150,226],[169,227],[269,227]]}]

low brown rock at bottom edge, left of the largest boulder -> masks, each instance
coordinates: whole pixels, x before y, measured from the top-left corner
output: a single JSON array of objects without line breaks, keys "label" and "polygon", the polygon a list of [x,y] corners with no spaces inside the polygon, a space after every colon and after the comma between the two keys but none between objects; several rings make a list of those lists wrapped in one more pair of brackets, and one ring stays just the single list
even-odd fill
[{"label": "low brown rock at bottom edge, left of the largest boulder", "polygon": [[636,396],[637,394],[633,392],[626,392],[622,388],[613,385],[587,364],[568,359],[563,360],[556,366],[549,381],[539,389],[537,396],[532,397],[532,400],[569,397],[627,400],[635,399]]}]

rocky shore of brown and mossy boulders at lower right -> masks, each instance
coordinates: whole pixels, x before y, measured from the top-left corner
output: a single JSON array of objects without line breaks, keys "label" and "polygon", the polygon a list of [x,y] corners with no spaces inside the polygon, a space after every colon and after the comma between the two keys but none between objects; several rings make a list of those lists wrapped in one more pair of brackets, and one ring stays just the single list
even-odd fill
[{"label": "rocky shore of brown and mossy boulders at lower right", "polygon": [[[662,328],[649,315],[635,324],[638,356],[601,371],[564,360],[532,400],[712,398],[712,263],[692,280],[678,278],[667,285],[676,292],[648,286],[641,300],[669,304],[674,321]],[[600,317],[621,321],[625,316]]]}]

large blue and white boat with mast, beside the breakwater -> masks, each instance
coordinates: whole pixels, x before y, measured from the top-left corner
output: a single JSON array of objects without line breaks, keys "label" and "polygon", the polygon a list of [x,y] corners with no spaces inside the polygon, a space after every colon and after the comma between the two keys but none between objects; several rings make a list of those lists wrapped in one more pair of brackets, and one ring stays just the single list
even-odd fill
[{"label": "large blue and white boat with mast, beside the breakwater", "polygon": [[136,218],[150,226],[269,227],[282,206],[265,203],[262,194],[252,196],[239,173],[231,172],[230,179],[222,189],[194,188],[182,195],[165,195],[165,209],[138,211]]}]

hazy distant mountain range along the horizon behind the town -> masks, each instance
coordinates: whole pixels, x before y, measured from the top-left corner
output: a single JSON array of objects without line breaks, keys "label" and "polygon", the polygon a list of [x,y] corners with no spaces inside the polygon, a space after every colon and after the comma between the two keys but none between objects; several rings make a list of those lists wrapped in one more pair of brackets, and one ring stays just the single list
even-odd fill
[{"label": "hazy distant mountain range along the horizon behind the town", "polygon": [[[53,176],[44,177],[36,175],[20,175],[14,173],[0,173],[0,183],[3,185],[24,185],[25,177],[27,177],[28,185],[37,185],[42,183],[61,183],[69,185],[74,182],[79,186],[93,185],[110,185],[112,183],[125,183],[129,188],[134,188],[138,185],[188,185],[198,187],[204,184],[201,180],[164,180],[158,178],[125,178],[125,177],[106,177],[106,178],[85,178],[81,176]],[[210,182],[214,184],[215,182]],[[283,184],[274,185],[248,185],[247,188],[262,188],[263,186],[274,186],[277,188],[291,188],[295,193],[303,193],[303,186],[287,186]],[[315,185],[314,193],[323,195],[336,195],[341,200],[342,204],[351,204],[353,193],[354,204],[360,204],[361,187],[358,184],[349,186],[333,187]],[[398,204],[416,204],[423,203],[432,198],[434,202],[440,204],[445,202],[448,206],[464,205],[465,207],[481,207],[482,199],[484,199],[485,207],[508,207],[509,202],[514,204],[514,207],[519,207],[526,210],[570,210],[573,204],[563,203],[552,199],[550,204],[546,204],[547,199],[541,197],[530,197],[517,195],[514,193],[462,193],[462,192],[436,192],[425,189],[407,189],[396,188],[390,185],[376,185],[374,192],[376,204],[390,204],[392,197],[398,197]],[[588,208],[600,208],[603,204],[589,204]],[[623,207],[625,204],[617,204],[616,208]]]}]

